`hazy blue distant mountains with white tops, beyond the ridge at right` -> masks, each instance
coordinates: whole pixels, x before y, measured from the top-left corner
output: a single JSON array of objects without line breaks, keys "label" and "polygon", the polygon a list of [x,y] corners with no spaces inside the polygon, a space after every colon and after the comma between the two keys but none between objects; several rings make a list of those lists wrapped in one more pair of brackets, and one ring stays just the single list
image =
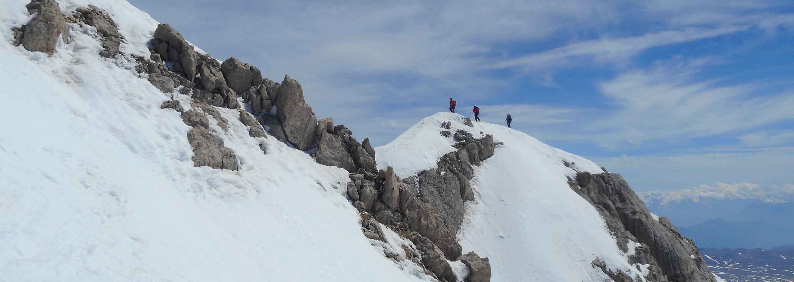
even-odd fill
[{"label": "hazy blue distant mountains with white tops, beyond the ridge at right", "polygon": [[765,248],[794,244],[794,185],[761,188],[717,182],[692,189],[638,192],[701,248]]}]

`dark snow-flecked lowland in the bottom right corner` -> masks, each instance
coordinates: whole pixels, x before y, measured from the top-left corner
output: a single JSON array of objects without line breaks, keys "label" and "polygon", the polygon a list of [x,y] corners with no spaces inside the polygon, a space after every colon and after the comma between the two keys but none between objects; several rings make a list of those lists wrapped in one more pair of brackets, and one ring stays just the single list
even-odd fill
[{"label": "dark snow-flecked lowland in the bottom right corner", "polygon": [[794,281],[794,246],[761,249],[700,248],[708,267],[728,282]]}]

